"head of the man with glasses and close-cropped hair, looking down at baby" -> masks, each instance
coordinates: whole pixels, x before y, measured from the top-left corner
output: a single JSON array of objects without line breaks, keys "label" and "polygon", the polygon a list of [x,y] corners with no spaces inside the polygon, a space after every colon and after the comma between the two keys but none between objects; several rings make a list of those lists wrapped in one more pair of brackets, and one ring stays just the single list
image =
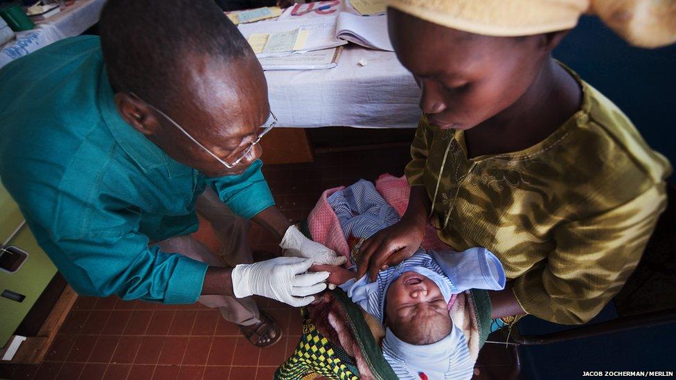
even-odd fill
[{"label": "head of the man with glasses and close-cropped hair, looking down at baby", "polygon": [[[101,48],[121,116],[173,159],[210,176],[227,170],[269,116],[267,84],[251,47],[213,0],[109,0]],[[139,98],[131,95],[134,93]]]}]

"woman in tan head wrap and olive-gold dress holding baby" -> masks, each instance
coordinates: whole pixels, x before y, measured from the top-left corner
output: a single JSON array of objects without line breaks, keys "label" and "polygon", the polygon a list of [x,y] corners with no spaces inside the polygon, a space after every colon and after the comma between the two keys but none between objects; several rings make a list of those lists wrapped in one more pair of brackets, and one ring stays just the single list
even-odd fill
[{"label": "woman in tan head wrap and olive-gold dress holding baby", "polygon": [[454,250],[483,246],[499,258],[511,280],[490,300],[505,323],[524,314],[585,323],[621,289],[666,207],[671,168],[551,57],[589,11],[632,44],[676,40],[670,1],[389,2],[390,38],[424,114],[405,170],[407,211],[364,243],[357,278],[411,256],[429,222]]}]

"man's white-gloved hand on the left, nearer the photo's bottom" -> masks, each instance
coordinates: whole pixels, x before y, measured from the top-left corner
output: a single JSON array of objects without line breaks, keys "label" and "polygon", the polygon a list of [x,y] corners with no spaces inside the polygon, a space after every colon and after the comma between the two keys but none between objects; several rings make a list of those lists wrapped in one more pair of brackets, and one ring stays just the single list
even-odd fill
[{"label": "man's white-gloved hand on the left, nearer the photo's bottom", "polygon": [[253,264],[238,264],[232,271],[235,297],[256,294],[293,307],[310,304],[313,294],[326,289],[328,272],[305,273],[312,260],[301,257],[275,257]]}]

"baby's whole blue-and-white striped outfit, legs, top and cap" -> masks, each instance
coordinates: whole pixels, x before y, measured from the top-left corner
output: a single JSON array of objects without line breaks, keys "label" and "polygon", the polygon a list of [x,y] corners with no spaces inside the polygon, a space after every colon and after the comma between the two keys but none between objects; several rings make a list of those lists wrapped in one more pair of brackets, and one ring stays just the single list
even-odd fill
[{"label": "baby's whole blue-and-white striped outfit, legs, top and cap", "polygon": [[[328,197],[346,239],[371,237],[382,228],[399,221],[398,213],[389,206],[371,182],[360,180]],[[409,259],[384,271],[375,282],[366,276],[341,285],[348,296],[380,323],[389,285],[407,271],[425,275],[439,287],[446,302],[452,294],[468,289],[503,289],[504,270],[497,257],[486,248],[470,248],[463,253],[439,255],[420,249]],[[441,341],[431,345],[411,345],[397,338],[387,328],[383,356],[400,379],[420,379],[424,372],[429,379],[469,379],[474,359],[465,336],[455,326]]]}]

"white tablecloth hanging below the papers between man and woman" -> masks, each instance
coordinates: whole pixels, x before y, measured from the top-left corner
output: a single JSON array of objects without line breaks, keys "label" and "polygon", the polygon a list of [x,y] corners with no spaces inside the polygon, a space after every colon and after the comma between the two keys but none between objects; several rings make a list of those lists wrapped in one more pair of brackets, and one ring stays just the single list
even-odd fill
[{"label": "white tablecloth hanging below the papers between man and woman", "polygon": [[[359,66],[359,60],[366,66]],[[416,127],[420,89],[394,53],[348,45],[327,70],[266,71],[281,127]]]}]

